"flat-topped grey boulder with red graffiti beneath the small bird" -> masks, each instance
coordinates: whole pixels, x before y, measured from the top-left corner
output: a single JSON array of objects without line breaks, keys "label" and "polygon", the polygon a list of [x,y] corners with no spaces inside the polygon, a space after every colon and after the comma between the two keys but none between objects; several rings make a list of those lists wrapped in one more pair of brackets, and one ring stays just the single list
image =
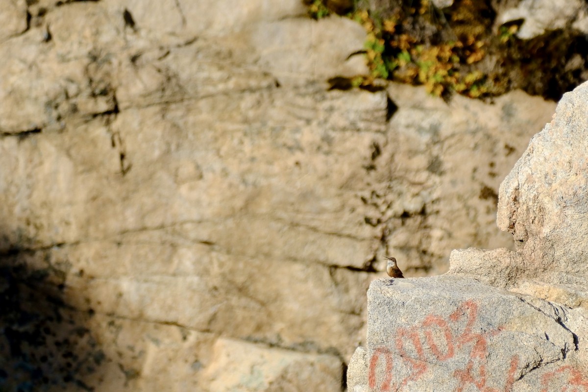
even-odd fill
[{"label": "flat-topped grey boulder with red graffiti beneath the small bird", "polygon": [[[588,386],[566,307],[452,276],[375,280],[370,391],[537,391]],[[583,340],[582,340],[583,341]]]}]

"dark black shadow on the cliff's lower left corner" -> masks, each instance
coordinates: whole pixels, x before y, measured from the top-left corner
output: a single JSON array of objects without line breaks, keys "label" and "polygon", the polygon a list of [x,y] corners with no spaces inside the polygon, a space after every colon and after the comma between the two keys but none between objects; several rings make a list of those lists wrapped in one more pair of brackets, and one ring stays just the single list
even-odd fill
[{"label": "dark black shadow on the cliff's lower left corner", "polygon": [[92,313],[68,304],[51,249],[2,248],[0,391],[95,390],[106,357],[86,327]]}]

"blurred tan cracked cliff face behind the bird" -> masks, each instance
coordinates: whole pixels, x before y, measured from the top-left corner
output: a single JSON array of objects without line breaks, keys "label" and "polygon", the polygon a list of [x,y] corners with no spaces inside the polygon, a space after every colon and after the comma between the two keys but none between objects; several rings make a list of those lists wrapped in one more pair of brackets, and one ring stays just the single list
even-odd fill
[{"label": "blurred tan cracked cliff face behind the bird", "polygon": [[339,390],[381,256],[508,246],[500,179],[553,112],[329,91],[364,32],[297,0],[0,7],[7,390]]}]

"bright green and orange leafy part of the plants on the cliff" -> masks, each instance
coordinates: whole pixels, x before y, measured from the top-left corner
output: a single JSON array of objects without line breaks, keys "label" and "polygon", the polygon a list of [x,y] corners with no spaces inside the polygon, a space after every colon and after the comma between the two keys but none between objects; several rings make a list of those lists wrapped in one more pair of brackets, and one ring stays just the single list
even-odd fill
[{"label": "bright green and orange leafy part of the plants on the cliff", "polygon": [[[436,96],[456,92],[480,98],[492,93],[495,89],[492,79],[472,66],[485,57],[485,41],[471,34],[460,38],[453,35],[449,41],[436,42],[430,37],[417,38],[406,24],[400,22],[403,18],[413,22],[417,18],[421,24],[429,23],[433,26],[432,31],[440,33],[448,26],[447,19],[437,17],[438,12],[423,0],[418,9],[398,9],[396,15],[382,20],[375,20],[365,10],[350,15],[368,32],[365,49],[370,78],[425,85],[427,91]],[[508,41],[516,30],[501,32],[501,38],[507,37]]]}]

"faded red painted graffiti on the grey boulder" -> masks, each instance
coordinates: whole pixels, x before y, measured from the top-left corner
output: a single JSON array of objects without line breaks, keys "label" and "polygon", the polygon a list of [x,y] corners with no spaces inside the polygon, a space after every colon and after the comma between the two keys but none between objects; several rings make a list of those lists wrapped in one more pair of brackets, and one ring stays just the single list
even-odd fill
[{"label": "faded red painted graffiti on the grey boulder", "polygon": [[[456,363],[463,363],[464,356],[466,363],[451,374],[457,381],[456,392],[513,392],[513,384],[520,376],[517,373],[519,356],[514,355],[510,359],[503,387],[490,387],[488,378],[493,377],[493,384],[496,385],[496,377],[500,375],[489,375],[486,369],[489,354],[487,338],[496,336],[502,329],[475,332],[477,314],[478,305],[469,300],[460,304],[447,320],[429,314],[420,324],[396,329],[394,346],[379,347],[372,355],[368,377],[370,390],[402,390],[411,381],[419,380],[429,370],[430,364],[436,361],[442,363],[459,354]],[[402,380],[394,378],[395,367],[398,368],[397,374],[406,374]],[[377,369],[380,369],[379,373]],[[377,379],[378,374],[382,380]],[[544,373],[541,385],[540,392],[588,392],[588,379],[572,366]]]}]

